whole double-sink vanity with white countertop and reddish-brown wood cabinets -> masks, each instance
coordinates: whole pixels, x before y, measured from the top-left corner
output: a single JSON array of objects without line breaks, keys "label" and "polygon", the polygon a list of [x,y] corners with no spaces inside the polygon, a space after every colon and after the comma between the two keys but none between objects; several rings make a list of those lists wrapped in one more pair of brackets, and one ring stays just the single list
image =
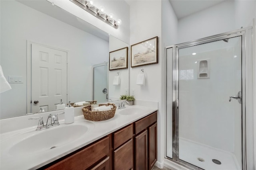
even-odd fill
[{"label": "whole double-sink vanity with white countertop and reddish-brown wood cabinets", "polygon": [[[55,114],[55,111],[52,114]],[[41,131],[33,115],[1,119],[1,126],[20,122],[1,133],[1,169],[105,169],[153,168],[157,159],[157,109],[127,106],[106,121],[84,119],[81,108],[75,121]],[[45,115],[43,115],[45,114]],[[50,114],[42,113],[46,118]],[[21,124],[22,123],[22,124]],[[23,123],[27,123],[24,127]],[[31,126],[31,124],[33,124]]]}]

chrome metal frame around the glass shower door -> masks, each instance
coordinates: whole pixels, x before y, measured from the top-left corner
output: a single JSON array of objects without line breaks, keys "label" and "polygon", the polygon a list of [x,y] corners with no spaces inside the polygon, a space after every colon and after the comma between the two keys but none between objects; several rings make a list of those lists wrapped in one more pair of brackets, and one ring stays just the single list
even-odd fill
[{"label": "chrome metal frame around the glass shower door", "polygon": [[[242,40],[242,170],[246,170],[246,31],[252,29],[252,27],[238,29],[235,31],[230,31],[218,35],[213,35],[210,37],[205,37],[202,39],[197,39],[194,41],[189,41],[186,43],[181,43],[178,45],[172,45],[166,47],[166,50],[172,48],[172,158],[166,156],[167,159],[186,166],[186,168],[192,170],[203,170],[198,166],[194,166],[184,160],[179,159],[179,49],[186,47],[192,47],[195,45],[201,45],[204,43],[211,43],[214,41],[219,41],[227,38],[240,37]],[[167,53],[167,52],[166,52]],[[167,60],[167,57],[166,57]],[[166,62],[167,63],[167,62]],[[167,66],[166,66],[167,67]],[[167,84],[166,84],[167,87]],[[167,111],[167,109],[166,109]],[[168,120],[166,120],[168,121]],[[166,122],[167,123],[167,122]],[[166,142],[167,145],[167,142]],[[165,153],[166,154],[166,153]]]}]

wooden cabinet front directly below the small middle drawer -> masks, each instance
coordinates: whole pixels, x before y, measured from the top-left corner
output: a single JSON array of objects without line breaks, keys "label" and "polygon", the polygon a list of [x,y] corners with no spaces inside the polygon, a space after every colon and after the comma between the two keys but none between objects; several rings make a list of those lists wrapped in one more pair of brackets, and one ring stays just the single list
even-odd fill
[{"label": "wooden cabinet front directly below the small middle drawer", "polygon": [[114,170],[130,170],[133,168],[132,139],[114,151]]}]

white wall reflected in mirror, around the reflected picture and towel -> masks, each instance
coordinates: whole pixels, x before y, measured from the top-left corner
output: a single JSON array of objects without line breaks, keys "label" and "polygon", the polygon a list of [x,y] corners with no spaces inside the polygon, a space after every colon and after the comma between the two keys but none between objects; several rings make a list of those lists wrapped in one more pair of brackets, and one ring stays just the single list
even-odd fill
[{"label": "white wall reflected in mirror, around the reflected picture and towel", "polygon": [[[129,67],[130,67],[130,49],[129,45],[120,39],[109,36],[109,51],[115,51],[118,49],[122,49],[128,47],[128,68],[119,69],[119,70],[110,70],[108,72],[108,91],[109,91],[109,99],[119,100],[120,95],[124,95],[126,91],[129,93]],[[118,86],[113,85],[114,76],[118,76],[117,72],[119,72],[120,84]]]}]

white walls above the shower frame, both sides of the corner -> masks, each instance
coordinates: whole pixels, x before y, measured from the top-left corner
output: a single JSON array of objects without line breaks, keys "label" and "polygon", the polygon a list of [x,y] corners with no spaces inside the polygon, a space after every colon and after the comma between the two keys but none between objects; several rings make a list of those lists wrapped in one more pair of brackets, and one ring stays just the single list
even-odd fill
[{"label": "white walls above the shower frame, both sides of the corner", "polygon": [[252,19],[256,18],[255,4],[255,0],[228,0],[181,18],[178,43],[252,26]]}]

